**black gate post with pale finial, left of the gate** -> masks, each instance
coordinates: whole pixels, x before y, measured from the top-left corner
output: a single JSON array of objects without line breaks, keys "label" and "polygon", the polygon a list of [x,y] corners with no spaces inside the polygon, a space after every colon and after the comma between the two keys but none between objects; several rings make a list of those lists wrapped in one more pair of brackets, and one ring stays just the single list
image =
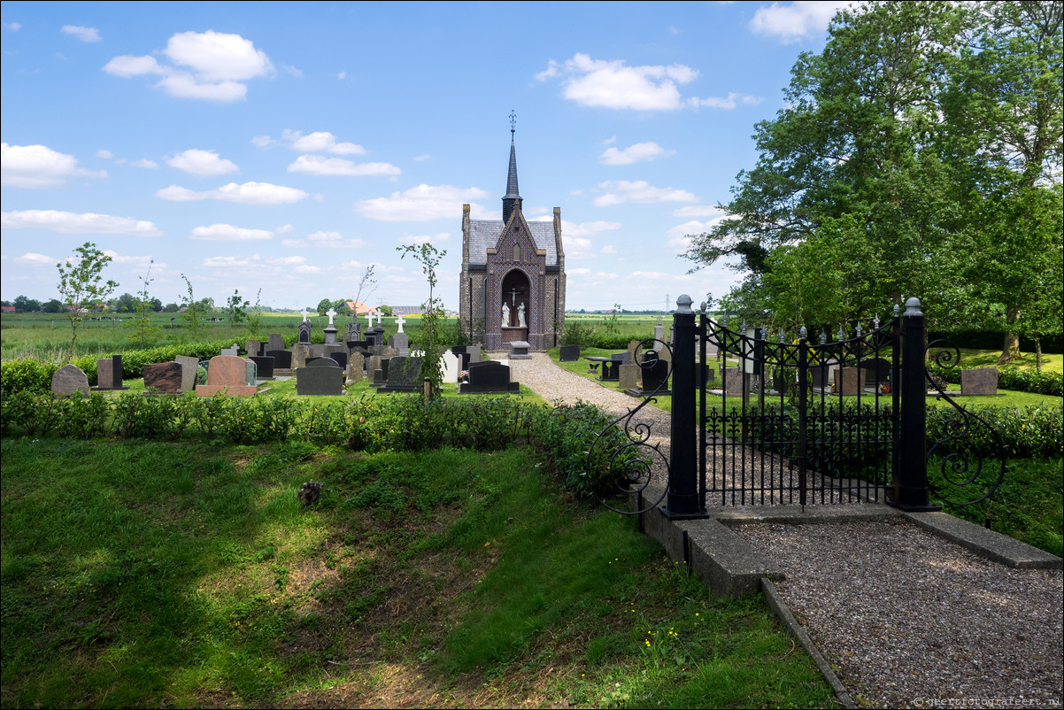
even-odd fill
[{"label": "black gate post with pale finial, left of the gate", "polygon": [[672,314],[672,428],[669,439],[668,498],[660,509],[670,519],[706,517],[698,495],[695,427],[695,312],[691,296],[676,299]]}]

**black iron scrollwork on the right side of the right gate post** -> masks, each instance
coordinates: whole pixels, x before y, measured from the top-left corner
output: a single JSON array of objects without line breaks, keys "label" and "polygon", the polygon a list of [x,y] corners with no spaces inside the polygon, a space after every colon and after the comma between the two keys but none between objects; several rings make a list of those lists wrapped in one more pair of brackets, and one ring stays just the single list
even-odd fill
[{"label": "black iron scrollwork on the right side of the right gate post", "polygon": [[[931,359],[934,363],[945,369],[952,369],[961,362],[961,350],[952,343],[948,341],[934,341],[929,343],[926,352],[931,353],[931,350],[935,347],[941,347],[937,352],[935,352]],[[998,435],[997,430],[994,429],[990,424],[986,423],[978,414],[969,412],[967,408],[961,407],[953,399],[946,394],[946,387],[941,378],[932,375],[931,370],[925,366],[924,374],[927,377],[928,384],[931,389],[935,390],[938,394],[940,399],[945,399],[957,411],[957,416],[950,419],[946,425],[946,435],[942,439],[936,440],[929,448],[927,452],[927,458],[930,461],[931,457],[940,448],[945,451],[942,460],[941,473],[943,479],[946,482],[955,485],[958,488],[966,488],[969,485],[977,484],[983,474],[983,456],[979,452],[971,452],[967,450],[951,451],[949,450],[958,442],[963,442],[970,431],[971,427],[976,425],[982,425],[986,427],[991,435],[997,445],[998,459],[1001,462],[998,468],[997,476],[993,481],[986,483],[986,492],[972,500],[966,502],[954,502],[955,506],[971,506],[977,502],[982,502],[990,498],[998,486],[1001,485],[1001,481],[1004,480],[1005,472],[1005,449],[1004,444],[1001,441],[1001,436]]]}]

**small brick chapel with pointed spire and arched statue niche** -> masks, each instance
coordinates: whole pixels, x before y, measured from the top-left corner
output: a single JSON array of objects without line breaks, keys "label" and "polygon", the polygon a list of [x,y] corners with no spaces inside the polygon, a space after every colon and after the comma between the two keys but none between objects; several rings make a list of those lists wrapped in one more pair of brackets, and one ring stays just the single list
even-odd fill
[{"label": "small brick chapel with pointed spire and arched statue niche", "polygon": [[[513,117],[511,117],[512,119]],[[462,279],[459,317],[484,347],[525,341],[532,350],[558,347],[565,323],[562,210],[551,221],[527,221],[517,189],[514,126],[502,220],[470,219],[462,205]]]}]

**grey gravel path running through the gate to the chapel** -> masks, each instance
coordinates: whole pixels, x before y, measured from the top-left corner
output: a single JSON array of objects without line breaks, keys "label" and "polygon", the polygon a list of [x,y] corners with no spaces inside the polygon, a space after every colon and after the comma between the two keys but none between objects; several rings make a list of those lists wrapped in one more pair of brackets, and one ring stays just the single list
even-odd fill
[{"label": "grey gravel path running through the gate to the chapel", "polygon": [[[545,353],[510,365],[547,401],[581,399],[615,415],[638,404]],[[669,415],[646,407],[637,418],[667,452]],[[900,519],[736,532],[783,568],[780,595],[859,705],[1061,707],[1061,571],[1011,569]]]}]

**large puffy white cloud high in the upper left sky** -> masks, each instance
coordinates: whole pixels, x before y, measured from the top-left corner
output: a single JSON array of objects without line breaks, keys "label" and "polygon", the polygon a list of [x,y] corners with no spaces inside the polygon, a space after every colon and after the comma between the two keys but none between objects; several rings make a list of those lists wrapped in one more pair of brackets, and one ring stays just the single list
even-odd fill
[{"label": "large puffy white cloud high in the upper left sky", "polygon": [[179,32],[162,53],[171,64],[160,64],[150,55],[123,54],[107,62],[103,70],[126,79],[157,75],[162,79],[155,85],[170,96],[210,101],[242,100],[248,90],[243,82],[275,72],[266,53],[238,34]]}]

